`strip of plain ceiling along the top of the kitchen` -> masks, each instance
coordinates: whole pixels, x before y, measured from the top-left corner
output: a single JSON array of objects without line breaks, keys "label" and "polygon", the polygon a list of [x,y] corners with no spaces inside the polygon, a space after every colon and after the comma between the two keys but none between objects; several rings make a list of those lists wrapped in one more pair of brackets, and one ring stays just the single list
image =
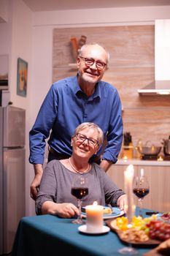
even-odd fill
[{"label": "strip of plain ceiling along the top of the kitchen", "polygon": [[170,5],[170,0],[23,0],[33,12]]}]

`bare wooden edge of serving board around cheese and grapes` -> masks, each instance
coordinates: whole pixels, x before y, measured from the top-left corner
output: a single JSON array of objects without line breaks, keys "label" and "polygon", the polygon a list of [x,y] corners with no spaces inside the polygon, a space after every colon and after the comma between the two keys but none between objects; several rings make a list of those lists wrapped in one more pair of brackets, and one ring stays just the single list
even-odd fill
[{"label": "bare wooden edge of serving board around cheese and grapes", "polygon": [[107,219],[107,220],[105,220],[105,222],[110,227],[110,229],[112,231],[117,233],[117,236],[120,238],[120,240],[125,242],[125,243],[131,243],[131,244],[134,244],[134,245],[155,245],[155,246],[161,243],[161,241],[150,239],[150,238],[148,238],[147,241],[128,240],[129,238],[125,238],[125,236],[124,236],[125,231],[120,230],[120,229],[117,228],[116,219]]}]

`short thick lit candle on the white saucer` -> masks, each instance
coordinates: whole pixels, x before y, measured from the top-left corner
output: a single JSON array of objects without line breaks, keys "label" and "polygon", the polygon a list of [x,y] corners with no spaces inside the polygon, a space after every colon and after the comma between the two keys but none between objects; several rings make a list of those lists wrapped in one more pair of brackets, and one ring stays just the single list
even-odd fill
[{"label": "short thick lit candle on the white saucer", "polygon": [[88,231],[101,231],[103,227],[104,206],[98,206],[97,202],[93,205],[85,206],[86,225]]}]

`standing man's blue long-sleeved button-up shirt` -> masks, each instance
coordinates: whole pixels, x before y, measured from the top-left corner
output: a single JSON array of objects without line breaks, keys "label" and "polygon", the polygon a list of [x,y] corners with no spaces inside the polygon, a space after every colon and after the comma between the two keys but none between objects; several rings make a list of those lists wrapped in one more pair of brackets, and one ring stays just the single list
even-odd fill
[{"label": "standing man's blue long-sleeved button-up shirt", "polygon": [[[123,140],[122,107],[117,89],[104,81],[96,84],[88,97],[77,83],[77,76],[53,83],[29,133],[29,162],[43,164],[45,139],[58,154],[72,154],[74,129],[83,122],[98,124],[107,137],[102,159],[117,161]],[[98,151],[101,154],[101,149]]]}]

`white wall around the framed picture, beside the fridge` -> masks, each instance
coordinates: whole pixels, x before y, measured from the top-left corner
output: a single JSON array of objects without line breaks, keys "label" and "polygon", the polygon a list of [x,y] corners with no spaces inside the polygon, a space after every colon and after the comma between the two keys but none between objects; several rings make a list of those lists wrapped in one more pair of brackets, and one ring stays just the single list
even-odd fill
[{"label": "white wall around the framed picture, beside the fridge", "polygon": [[[28,168],[28,132],[30,129],[31,105],[34,99],[31,99],[31,62],[32,62],[32,12],[28,9],[22,0],[10,0],[12,7],[12,46],[10,61],[10,83],[9,89],[13,105],[26,109],[26,215],[30,214],[29,208],[32,200],[29,196],[30,180],[33,172]],[[18,58],[28,62],[28,83],[26,97],[19,96],[17,91],[17,69]]]}]

